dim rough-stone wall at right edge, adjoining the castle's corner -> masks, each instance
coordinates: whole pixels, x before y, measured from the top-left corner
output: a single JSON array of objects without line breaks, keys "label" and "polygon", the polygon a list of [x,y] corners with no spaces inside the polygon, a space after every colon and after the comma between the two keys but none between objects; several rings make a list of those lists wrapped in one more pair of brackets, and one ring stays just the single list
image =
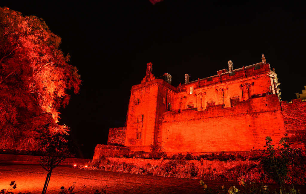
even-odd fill
[{"label": "dim rough-stone wall at right edge, adjoining the castle's corner", "polygon": [[306,132],[306,102],[301,99],[281,102],[282,114],[284,115],[285,129],[288,135]]}]

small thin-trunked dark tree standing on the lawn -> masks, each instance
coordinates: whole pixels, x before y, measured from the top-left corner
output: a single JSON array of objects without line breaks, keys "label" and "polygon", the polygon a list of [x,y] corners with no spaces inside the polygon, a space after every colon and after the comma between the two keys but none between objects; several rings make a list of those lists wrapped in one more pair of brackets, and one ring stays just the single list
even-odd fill
[{"label": "small thin-trunked dark tree standing on the lawn", "polygon": [[60,133],[43,133],[37,139],[39,140],[39,164],[48,172],[42,192],[45,194],[53,169],[64,162],[67,157],[72,156],[78,147],[74,145],[73,141],[66,140],[64,135]]}]

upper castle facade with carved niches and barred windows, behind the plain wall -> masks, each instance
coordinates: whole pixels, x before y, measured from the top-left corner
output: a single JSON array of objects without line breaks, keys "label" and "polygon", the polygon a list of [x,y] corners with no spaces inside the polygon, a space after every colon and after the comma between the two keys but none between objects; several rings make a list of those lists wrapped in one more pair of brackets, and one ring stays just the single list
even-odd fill
[{"label": "upper castle facade with carved niches and barred windows, behind the plain wall", "polygon": [[[214,101],[215,105],[224,104],[225,107],[231,107],[231,97],[238,96],[239,101],[245,101],[252,95],[270,92],[269,86],[272,86],[271,81],[273,82],[270,65],[259,66],[260,69],[256,70],[254,67],[245,68],[245,76],[242,68],[231,76],[229,72],[221,74],[221,82],[220,77],[216,76],[212,81],[207,78],[200,80],[200,83],[195,81],[182,85],[181,92],[178,93],[181,108],[186,109],[188,105],[193,104],[198,110],[205,110],[208,101]],[[192,94],[190,87],[194,89]]]}]

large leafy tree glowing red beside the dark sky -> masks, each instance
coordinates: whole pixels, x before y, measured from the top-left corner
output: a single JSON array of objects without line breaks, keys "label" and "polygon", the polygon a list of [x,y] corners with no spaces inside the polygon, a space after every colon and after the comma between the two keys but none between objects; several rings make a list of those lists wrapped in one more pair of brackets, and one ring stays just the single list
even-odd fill
[{"label": "large leafy tree glowing red beside the dark sky", "polygon": [[39,134],[69,131],[58,110],[81,80],[60,43],[43,19],[0,8],[0,149],[35,150]]}]

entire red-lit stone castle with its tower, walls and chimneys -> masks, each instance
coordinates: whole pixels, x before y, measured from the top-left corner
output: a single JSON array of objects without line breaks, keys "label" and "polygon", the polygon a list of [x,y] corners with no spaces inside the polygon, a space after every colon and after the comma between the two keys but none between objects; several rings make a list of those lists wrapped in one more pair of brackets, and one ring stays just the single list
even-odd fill
[{"label": "entire red-lit stone castle with its tower, walls and chimneys", "polygon": [[[217,71],[211,77],[171,85],[171,75],[155,78],[152,63],[132,86],[126,126],[109,130],[107,145],[131,151],[160,146],[168,154],[262,149],[266,136],[277,141],[306,130],[306,102],[281,101],[277,74],[262,61]],[[299,112],[295,114],[295,112]],[[303,113],[303,114],[301,114]]]}]

